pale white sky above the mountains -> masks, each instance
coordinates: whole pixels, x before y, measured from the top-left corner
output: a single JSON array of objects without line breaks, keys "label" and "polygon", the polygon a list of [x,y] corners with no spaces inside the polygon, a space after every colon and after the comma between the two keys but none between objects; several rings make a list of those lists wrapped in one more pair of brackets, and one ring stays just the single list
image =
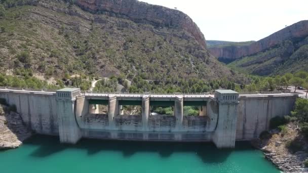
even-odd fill
[{"label": "pale white sky above the mountains", "polygon": [[308,0],[140,0],[177,8],[191,17],[207,40],[259,40],[286,25],[308,20]]}]

